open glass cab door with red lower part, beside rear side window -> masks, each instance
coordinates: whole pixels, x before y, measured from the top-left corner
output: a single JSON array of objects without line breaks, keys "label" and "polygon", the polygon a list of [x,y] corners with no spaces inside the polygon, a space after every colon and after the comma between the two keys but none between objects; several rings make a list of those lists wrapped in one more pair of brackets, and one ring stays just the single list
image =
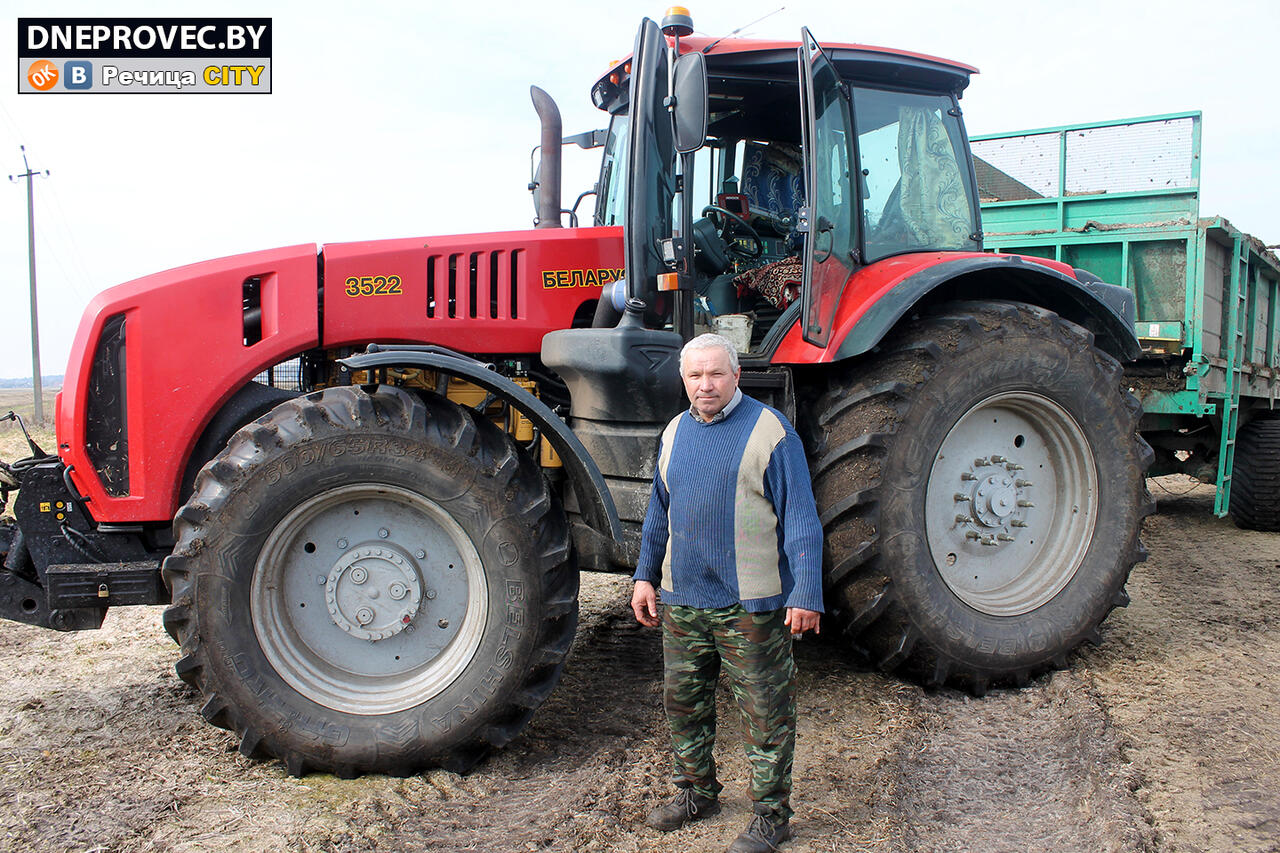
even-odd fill
[{"label": "open glass cab door with red lower part, beside rear side window", "polygon": [[800,113],[808,231],[804,252],[803,333],[819,347],[858,257],[854,122],[849,87],[808,28],[800,31]]}]

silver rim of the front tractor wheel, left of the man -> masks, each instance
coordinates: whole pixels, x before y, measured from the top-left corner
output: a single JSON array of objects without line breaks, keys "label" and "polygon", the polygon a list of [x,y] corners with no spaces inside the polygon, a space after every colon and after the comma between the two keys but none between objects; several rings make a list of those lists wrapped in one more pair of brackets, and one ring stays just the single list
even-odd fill
[{"label": "silver rim of the front tractor wheel, left of the man", "polygon": [[488,616],[484,565],[435,502],[407,489],[342,485],[289,512],[266,538],[250,611],[289,686],[335,711],[403,711],[439,694],[475,657]]}]

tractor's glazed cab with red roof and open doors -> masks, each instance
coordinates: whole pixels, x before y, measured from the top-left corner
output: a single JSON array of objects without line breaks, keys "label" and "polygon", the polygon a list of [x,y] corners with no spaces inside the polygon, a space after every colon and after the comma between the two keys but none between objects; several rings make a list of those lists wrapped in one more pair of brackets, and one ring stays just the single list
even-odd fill
[{"label": "tractor's glazed cab with red roof and open doors", "polygon": [[627,232],[627,278],[602,301],[640,298],[686,339],[745,315],[748,355],[768,357],[797,323],[826,347],[859,269],[980,250],[959,109],[975,69],[808,29],[689,32],[646,20],[591,92],[611,115],[594,220]]}]

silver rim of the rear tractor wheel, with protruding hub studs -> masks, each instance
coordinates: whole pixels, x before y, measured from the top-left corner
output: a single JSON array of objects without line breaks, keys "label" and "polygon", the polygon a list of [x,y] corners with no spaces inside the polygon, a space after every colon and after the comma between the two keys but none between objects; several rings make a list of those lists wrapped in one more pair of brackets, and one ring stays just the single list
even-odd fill
[{"label": "silver rim of the rear tractor wheel, with protruding hub studs", "polygon": [[1093,450],[1070,412],[1030,392],[988,397],[956,421],[933,461],[933,564],[969,607],[1028,613],[1075,576],[1097,494]]}]

